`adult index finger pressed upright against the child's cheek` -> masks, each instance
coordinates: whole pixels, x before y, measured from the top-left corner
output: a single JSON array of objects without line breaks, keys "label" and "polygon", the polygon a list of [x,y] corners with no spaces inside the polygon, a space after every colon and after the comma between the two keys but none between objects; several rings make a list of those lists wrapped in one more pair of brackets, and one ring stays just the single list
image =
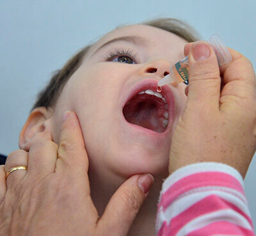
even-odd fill
[{"label": "adult index finger pressed upright against the child's cheek", "polygon": [[88,156],[84,148],[84,139],[76,113],[66,111],[61,126],[60,145],[56,169],[68,168],[78,173],[88,172]]}]

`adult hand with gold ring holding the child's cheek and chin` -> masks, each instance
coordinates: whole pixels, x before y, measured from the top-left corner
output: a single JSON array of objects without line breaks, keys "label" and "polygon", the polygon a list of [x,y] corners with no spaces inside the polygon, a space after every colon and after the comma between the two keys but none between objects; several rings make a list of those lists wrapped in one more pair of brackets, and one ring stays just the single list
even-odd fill
[{"label": "adult hand with gold ring holding the child's cheek and chin", "polygon": [[[129,178],[99,218],[90,197],[79,121],[69,111],[63,120],[60,146],[49,139],[38,141],[29,152],[12,152],[1,166],[0,235],[119,236],[129,231],[153,178]],[[6,179],[14,166],[28,166],[28,170],[13,171]]]}]

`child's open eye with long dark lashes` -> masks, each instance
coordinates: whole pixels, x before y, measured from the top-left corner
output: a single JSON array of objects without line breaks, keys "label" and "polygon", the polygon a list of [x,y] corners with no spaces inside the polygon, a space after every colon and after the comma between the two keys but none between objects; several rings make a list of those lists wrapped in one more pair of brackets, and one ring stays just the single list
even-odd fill
[{"label": "child's open eye with long dark lashes", "polygon": [[136,55],[131,50],[119,50],[111,51],[106,58],[107,61],[116,61],[120,63],[135,64],[137,63]]}]

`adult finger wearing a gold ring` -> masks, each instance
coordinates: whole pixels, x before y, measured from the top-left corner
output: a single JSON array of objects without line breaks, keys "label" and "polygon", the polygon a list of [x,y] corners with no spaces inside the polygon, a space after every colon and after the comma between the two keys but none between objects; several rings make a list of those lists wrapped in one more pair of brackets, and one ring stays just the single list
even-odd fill
[{"label": "adult finger wearing a gold ring", "polygon": [[[24,150],[16,150],[11,152],[6,159],[4,171],[7,174],[11,168],[17,166],[28,167],[28,152]],[[10,187],[15,187],[15,183],[19,183],[26,174],[27,171],[24,169],[19,169],[10,173],[10,175],[8,175],[6,178],[7,189]]]}]

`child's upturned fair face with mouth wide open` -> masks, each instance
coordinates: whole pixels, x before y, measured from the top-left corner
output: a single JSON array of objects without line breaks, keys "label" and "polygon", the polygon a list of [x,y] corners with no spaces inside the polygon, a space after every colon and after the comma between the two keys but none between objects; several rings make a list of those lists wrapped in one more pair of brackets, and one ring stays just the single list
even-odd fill
[{"label": "child's upturned fair face with mouth wide open", "polygon": [[[124,36],[136,38],[104,45]],[[92,46],[61,93],[52,116],[54,141],[58,143],[63,112],[72,110],[81,124],[90,171],[111,172],[124,178],[136,173],[166,173],[173,125],[186,101],[185,84],[164,86],[167,90],[161,94],[168,108],[161,98],[145,94],[137,95],[123,108],[136,88],[136,94],[148,89],[156,92],[157,81],[184,57],[186,43],[168,31],[145,25],[125,26],[105,35]],[[113,56],[116,49],[122,54]],[[136,54],[136,58],[127,52]],[[166,111],[169,118],[165,129]],[[138,125],[127,122],[124,116]]]}]

